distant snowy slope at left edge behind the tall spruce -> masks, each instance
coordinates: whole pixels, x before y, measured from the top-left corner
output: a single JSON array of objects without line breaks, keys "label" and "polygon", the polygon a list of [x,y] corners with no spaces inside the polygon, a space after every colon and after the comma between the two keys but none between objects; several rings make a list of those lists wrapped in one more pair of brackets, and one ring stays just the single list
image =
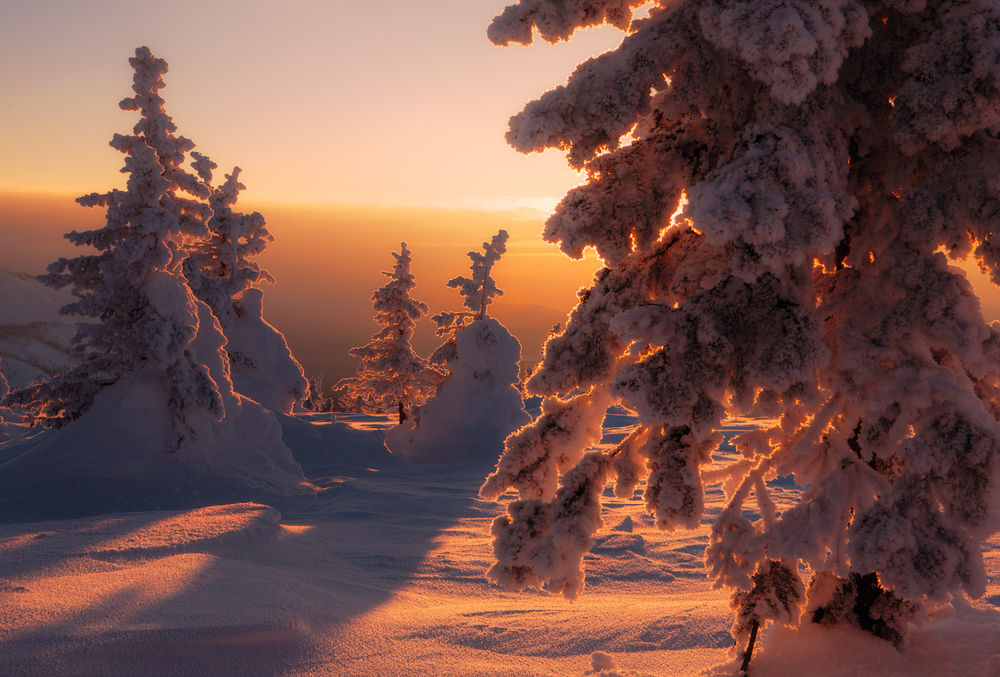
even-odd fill
[{"label": "distant snowy slope at left edge behind the tall spruce", "polygon": [[77,363],[69,349],[75,321],[59,315],[72,300],[69,292],[50,289],[33,275],[0,269],[0,359],[12,387]]}]

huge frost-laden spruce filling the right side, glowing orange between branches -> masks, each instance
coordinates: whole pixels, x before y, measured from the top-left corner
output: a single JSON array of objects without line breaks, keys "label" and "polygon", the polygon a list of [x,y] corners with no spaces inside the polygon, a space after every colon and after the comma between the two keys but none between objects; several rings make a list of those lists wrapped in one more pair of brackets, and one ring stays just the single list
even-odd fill
[{"label": "huge frost-laden spruce filling the right side, glowing orange between branches", "polygon": [[[982,594],[977,543],[1000,522],[1000,326],[947,258],[1000,283],[1000,6],[670,0],[633,21],[645,4],[521,0],[489,29],[626,33],[511,120],[516,149],[587,171],[545,238],[606,267],[482,488],[520,494],[489,576],[575,596],[606,481],[631,496],[646,478],[668,530],[698,526],[723,482],[706,560],[736,591],[739,648],[808,617],[802,563],[839,581],[810,608],[851,615],[862,596],[838,597],[874,575],[883,636],[905,635],[914,605]],[[584,455],[616,401],[639,427]],[[751,411],[775,423],[712,465],[723,419]],[[807,489],[779,515],[768,480],[789,474]]]}]

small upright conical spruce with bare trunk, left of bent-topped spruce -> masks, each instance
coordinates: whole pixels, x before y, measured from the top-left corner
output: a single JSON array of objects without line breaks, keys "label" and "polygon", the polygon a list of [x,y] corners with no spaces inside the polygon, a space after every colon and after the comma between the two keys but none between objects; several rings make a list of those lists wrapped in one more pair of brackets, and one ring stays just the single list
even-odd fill
[{"label": "small upright conical spruce with bare trunk, left of bent-topped spruce", "polygon": [[443,374],[413,351],[413,328],[427,314],[427,305],[410,296],[416,286],[410,273],[410,251],[406,243],[392,252],[396,265],[385,286],[372,294],[375,322],[381,326],[371,341],[351,348],[350,355],[361,360],[356,375],[341,379],[335,390],[357,401],[370,413],[395,411],[402,423],[407,410],[423,404],[434,394]]}]

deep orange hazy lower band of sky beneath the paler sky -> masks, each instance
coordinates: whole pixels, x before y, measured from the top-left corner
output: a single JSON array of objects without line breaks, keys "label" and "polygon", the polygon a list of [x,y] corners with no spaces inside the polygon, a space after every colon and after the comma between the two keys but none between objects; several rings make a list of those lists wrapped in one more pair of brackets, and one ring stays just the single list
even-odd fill
[{"label": "deep orange hazy lower band of sky beneath the paler sky", "polygon": [[[369,297],[385,284],[400,241],[413,254],[414,296],[431,313],[458,310],[461,298],[446,286],[469,274],[466,252],[479,249],[499,228],[510,233],[507,253],[494,268],[504,296],[490,307],[522,344],[525,360],[538,359],[545,333],[575,304],[578,288],[598,267],[595,258],[571,261],[538,238],[542,217],[530,210],[483,211],[415,207],[289,206],[248,204],[264,214],[274,242],[261,262],[277,278],[265,288],[265,317],[281,329],[310,373],[346,376],[355,361],[349,348],[376,327]],[[99,227],[103,211],[85,209],[73,196],[0,192],[0,268],[41,273],[59,256],[80,249],[63,239],[71,229]],[[0,300],[2,302],[2,300]],[[414,345],[428,354],[437,344],[429,321]]]}]

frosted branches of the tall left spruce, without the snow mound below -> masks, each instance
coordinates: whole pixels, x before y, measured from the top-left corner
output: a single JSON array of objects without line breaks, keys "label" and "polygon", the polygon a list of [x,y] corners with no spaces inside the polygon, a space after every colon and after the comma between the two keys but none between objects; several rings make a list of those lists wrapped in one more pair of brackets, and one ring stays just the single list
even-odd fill
[{"label": "frosted branches of the tall left spruce, without the snow mound below", "polygon": [[189,410],[221,419],[224,395],[230,389],[227,366],[213,370],[193,357],[192,346],[200,334],[212,333],[216,326],[206,326],[197,300],[179,274],[184,242],[207,232],[208,191],[183,166],[194,144],[174,133],[176,126],[164,111],[159,90],[166,62],[140,47],[129,63],[135,71],[135,96],[120,106],[139,111],[140,119],[133,134],[116,134],[111,141],[125,155],[126,190],[78,199],[84,206],[104,207],[106,223],[66,237],[97,253],[59,259],[40,277],[51,287],[70,287],[77,295],[63,314],[93,318],[77,325],[74,338],[85,360],[12,397],[34,420],[61,425],[86,411],[102,388],[155,365],[169,384],[177,445],[189,432],[185,423]]}]

